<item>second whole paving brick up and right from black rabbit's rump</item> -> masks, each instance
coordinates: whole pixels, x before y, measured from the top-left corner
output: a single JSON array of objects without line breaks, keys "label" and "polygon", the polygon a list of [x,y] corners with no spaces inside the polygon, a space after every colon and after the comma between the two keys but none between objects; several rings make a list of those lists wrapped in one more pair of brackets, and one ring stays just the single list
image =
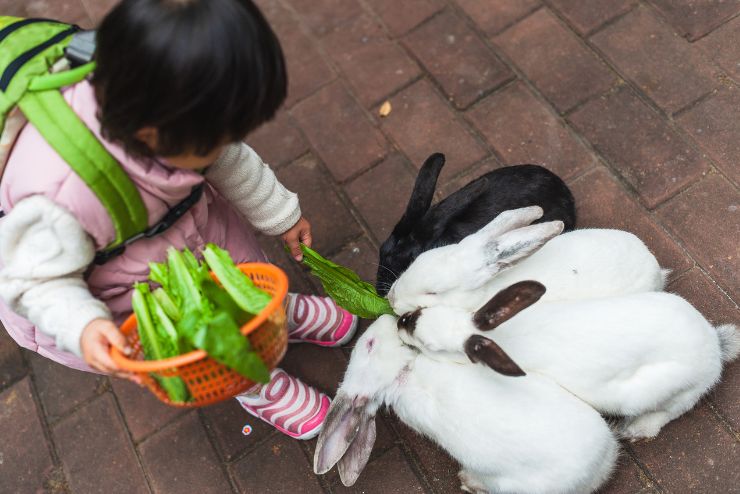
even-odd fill
[{"label": "second whole paving brick up and right from black rabbit's rump", "polygon": [[709,163],[627,87],[569,119],[654,208],[706,173]]}]

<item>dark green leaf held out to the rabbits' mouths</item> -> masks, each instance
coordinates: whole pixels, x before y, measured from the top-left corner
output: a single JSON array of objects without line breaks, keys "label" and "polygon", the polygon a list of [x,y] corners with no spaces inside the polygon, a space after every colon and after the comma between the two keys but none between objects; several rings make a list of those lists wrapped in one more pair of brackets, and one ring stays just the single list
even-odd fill
[{"label": "dark green leaf held out to the rabbits' mouths", "polygon": [[303,264],[321,280],[326,293],[339,306],[365,319],[375,319],[383,314],[394,313],[388,300],[378,295],[375,287],[362,281],[354,271],[321,257],[303,244],[301,251]]}]

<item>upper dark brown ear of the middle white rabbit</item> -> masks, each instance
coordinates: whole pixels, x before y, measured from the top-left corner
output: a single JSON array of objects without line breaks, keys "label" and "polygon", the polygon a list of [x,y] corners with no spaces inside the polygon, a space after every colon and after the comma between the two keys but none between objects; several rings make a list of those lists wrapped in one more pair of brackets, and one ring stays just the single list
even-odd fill
[{"label": "upper dark brown ear of the middle white rabbit", "polygon": [[481,331],[490,331],[537,302],[545,291],[545,285],[537,281],[514,283],[478,309],[473,324]]}]

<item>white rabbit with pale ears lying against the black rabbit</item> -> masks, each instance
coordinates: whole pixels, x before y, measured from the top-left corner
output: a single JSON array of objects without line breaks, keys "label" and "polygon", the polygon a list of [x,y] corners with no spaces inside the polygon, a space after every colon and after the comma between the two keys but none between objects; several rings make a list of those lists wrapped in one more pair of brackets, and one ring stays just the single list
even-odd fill
[{"label": "white rabbit with pale ears lying against the black rabbit", "polygon": [[547,286],[545,300],[663,289],[667,271],[631,233],[587,229],[556,236],[559,221],[526,226],[541,216],[538,206],[506,211],[459,243],[422,253],[388,293],[394,311],[435,305],[473,311],[523,280]]}]

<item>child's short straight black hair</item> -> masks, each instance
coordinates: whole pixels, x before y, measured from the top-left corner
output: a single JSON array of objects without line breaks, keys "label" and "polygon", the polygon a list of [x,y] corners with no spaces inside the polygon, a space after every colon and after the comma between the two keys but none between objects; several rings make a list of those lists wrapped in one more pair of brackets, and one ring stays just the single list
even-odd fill
[{"label": "child's short straight black hair", "polygon": [[[96,61],[103,135],[138,156],[241,140],[287,92],[280,43],[250,0],[123,0],[98,30]],[[157,149],[136,138],[144,127]]]}]

